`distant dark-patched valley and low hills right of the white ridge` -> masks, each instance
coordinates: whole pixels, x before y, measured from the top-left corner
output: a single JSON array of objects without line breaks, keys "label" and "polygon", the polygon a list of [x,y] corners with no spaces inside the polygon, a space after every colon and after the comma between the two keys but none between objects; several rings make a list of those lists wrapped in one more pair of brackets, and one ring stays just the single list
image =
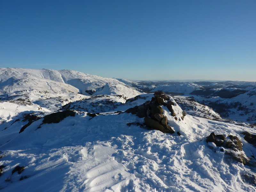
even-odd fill
[{"label": "distant dark-patched valley and low hills right of the white ridge", "polygon": [[[189,113],[196,116],[204,115],[206,111],[209,111],[212,117],[216,117],[214,113],[218,113],[225,119],[256,124],[256,82],[128,81],[125,79],[120,79],[120,81],[140,88],[148,93],[158,90],[185,100],[192,98],[198,103],[198,107],[194,107],[194,105],[189,107]],[[186,106],[190,105],[189,101],[184,101],[183,103]],[[185,107],[185,105],[183,105],[183,107]],[[202,106],[199,107],[199,105],[205,106],[205,108],[201,108]],[[186,107],[186,110],[187,109]],[[214,113],[212,113],[211,110]],[[204,112],[201,113],[199,111]]]}]

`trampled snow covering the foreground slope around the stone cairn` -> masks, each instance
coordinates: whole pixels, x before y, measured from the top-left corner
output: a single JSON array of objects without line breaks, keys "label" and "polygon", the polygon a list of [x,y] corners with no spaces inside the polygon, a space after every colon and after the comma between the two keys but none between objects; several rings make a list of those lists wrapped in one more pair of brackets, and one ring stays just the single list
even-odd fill
[{"label": "trampled snow covering the foreground slope around the stone cairn", "polygon": [[[88,104],[103,98],[92,97]],[[115,110],[125,111],[152,97],[144,94],[126,103],[120,98]],[[116,96],[109,98],[118,101]],[[182,109],[171,100],[180,116]],[[205,140],[211,132],[237,136],[242,154],[251,157],[256,148],[240,133],[255,134],[255,129],[189,115],[175,120],[163,106],[175,130],[168,134],[147,129],[143,118],[131,113],[92,117],[84,112],[84,102],[76,101],[76,107],[81,105],[75,116],[51,124],[42,124],[41,118],[20,134],[26,122],[0,124],[0,130],[7,127],[0,135],[1,165],[6,166],[0,176],[2,191],[255,191],[255,168]],[[92,108],[97,111],[99,106]],[[142,126],[127,125],[133,122]],[[12,174],[18,165],[24,171]]]}]

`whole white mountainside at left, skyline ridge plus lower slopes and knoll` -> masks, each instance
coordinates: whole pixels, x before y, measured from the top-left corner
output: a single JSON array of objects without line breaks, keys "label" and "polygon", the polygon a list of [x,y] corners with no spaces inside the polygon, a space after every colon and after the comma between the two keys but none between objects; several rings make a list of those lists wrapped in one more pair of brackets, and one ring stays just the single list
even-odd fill
[{"label": "whole white mountainside at left, skyline ridge plus lower slopes and knoll", "polygon": [[[78,71],[0,68],[2,101],[29,100],[39,108],[55,111],[70,102],[86,99],[92,94],[121,95],[128,99],[141,92],[114,78],[103,78]],[[11,119],[12,116],[8,118]]]}]

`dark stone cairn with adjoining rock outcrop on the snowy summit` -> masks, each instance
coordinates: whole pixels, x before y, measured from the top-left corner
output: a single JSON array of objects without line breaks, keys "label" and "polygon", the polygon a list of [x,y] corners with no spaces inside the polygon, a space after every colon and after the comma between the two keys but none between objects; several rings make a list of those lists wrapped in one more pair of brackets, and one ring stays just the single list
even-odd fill
[{"label": "dark stone cairn with adjoining rock outcrop on the snowy summit", "polygon": [[[152,97],[151,101],[146,101],[140,106],[135,106],[133,108],[127,109],[126,113],[136,114],[136,116],[143,118],[145,125],[150,127],[151,129],[159,130],[164,133],[174,133],[172,127],[167,125],[167,117],[163,114],[164,110],[161,106],[166,106],[171,115],[176,116],[172,106],[175,105],[173,101],[170,101],[170,97],[164,92],[155,92],[154,97]],[[182,112],[181,119],[184,119],[185,111]],[[178,118],[175,118],[178,120]]]}]

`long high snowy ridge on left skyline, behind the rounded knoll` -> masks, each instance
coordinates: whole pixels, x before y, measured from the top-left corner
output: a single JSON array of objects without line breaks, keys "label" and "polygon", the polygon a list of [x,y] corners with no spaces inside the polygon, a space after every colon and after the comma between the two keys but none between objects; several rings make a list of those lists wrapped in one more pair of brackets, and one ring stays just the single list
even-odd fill
[{"label": "long high snowy ridge on left skyline, behind the rounded knoll", "polygon": [[[114,78],[89,75],[73,70],[0,68],[0,88],[3,92],[50,90],[91,95],[105,84],[126,86]],[[133,87],[126,87],[126,91],[128,89],[135,91]]]}]

